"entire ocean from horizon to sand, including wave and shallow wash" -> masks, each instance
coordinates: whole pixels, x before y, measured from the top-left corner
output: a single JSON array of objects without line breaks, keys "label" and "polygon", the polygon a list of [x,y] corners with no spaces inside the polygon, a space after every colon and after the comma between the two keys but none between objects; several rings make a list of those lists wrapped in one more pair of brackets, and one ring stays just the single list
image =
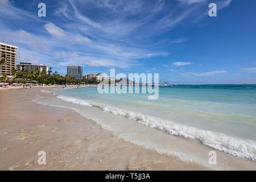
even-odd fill
[{"label": "entire ocean from horizon to sand, including wave and shallow wash", "polygon": [[[213,169],[256,167],[256,85],[159,86],[156,100],[148,93],[100,94],[97,86],[56,89],[54,95],[35,101],[75,110],[159,154]],[[209,151],[217,152],[216,165],[209,164]]]}]

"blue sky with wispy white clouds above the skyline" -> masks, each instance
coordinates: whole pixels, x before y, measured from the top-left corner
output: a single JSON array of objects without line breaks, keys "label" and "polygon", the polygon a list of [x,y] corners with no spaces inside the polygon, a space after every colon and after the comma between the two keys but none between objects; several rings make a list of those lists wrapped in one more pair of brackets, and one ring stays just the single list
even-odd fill
[{"label": "blue sky with wispy white clouds above the skyline", "polygon": [[[38,4],[46,4],[46,17]],[[209,3],[217,16],[210,17]],[[256,84],[255,0],[0,0],[0,42],[60,75],[159,73],[171,84]]]}]

